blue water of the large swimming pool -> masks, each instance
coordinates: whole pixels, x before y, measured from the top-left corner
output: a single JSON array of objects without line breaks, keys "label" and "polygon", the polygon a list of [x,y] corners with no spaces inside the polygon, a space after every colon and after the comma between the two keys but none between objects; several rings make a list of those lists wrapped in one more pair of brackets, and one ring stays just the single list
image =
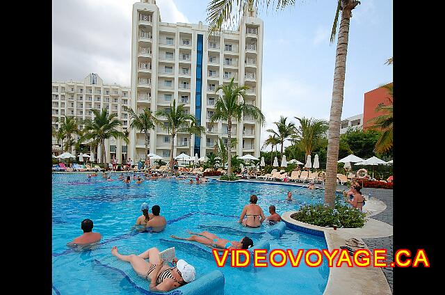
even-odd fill
[{"label": "blue water of the large swimming pool", "polygon": [[[117,180],[106,182],[100,177],[87,181],[85,174],[53,173],[52,191],[52,284],[53,294],[140,294],[122,274],[104,269],[94,263],[95,259],[111,255],[111,247],[118,246],[122,254],[139,254],[147,248],[160,250],[171,246],[159,241],[170,239],[170,234],[188,237],[186,230],[202,231],[203,226],[223,225],[234,230],[214,232],[218,236],[240,240],[246,234],[236,223],[241,209],[248,204],[250,195],[256,194],[258,205],[268,215],[268,206],[275,205],[277,212],[296,210],[305,203],[323,202],[323,191],[298,189],[295,186],[227,183],[211,180],[207,184],[188,184],[186,181],[156,180],[143,184],[130,185]],[[293,191],[296,202],[286,202],[287,191]],[[140,204],[161,206],[161,215],[168,221],[161,233],[129,234],[140,216]],[[83,219],[94,221],[95,232],[103,236],[102,244],[95,250],[76,253],[68,250],[66,244],[78,237],[82,231]],[[247,234],[249,236],[249,234]],[[324,237],[286,229],[278,239],[272,235],[250,234],[255,242],[267,240],[270,249],[327,248]],[[176,250],[179,259],[184,258],[193,264],[197,278],[215,269],[225,276],[225,294],[323,294],[329,269],[322,266],[310,268],[304,263],[299,267],[275,268],[269,266],[256,272],[218,268],[216,263],[205,255],[199,255],[184,247]],[[148,285],[148,282],[147,282]]]}]

